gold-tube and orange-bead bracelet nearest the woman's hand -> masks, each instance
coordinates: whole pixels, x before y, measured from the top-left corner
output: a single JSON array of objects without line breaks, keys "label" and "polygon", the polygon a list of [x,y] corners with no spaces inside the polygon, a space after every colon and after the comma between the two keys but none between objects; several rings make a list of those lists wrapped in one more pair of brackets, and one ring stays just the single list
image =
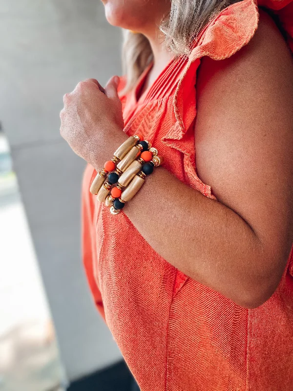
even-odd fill
[{"label": "gold-tube and orange-bead bracelet nearest the woman's hand", "polygon": [[[138,135],[130,136],[129,138],[127,138],[127,140],[124,143],[121,144],[121,146],[114,152],[113,158],[105,162],[104,169],[99,171],[96,177],[94,178],[94,180],[92,181],[92,184],[89,189],[89,191],[92,194],[98,195],[99,191],[102,189],[102,186],[104,185],[105,180],[109,176],[108,174],[109,172],[114,171],[116,169],[115,173],[112,174],[116,174],[118,176],[119,174],[121,174],[122,171],[119,170],[119,167],[118,170],[116,168],[117,163],[121,162],[121,160],[126,156],[126,154],[131,150],[131,148],[134,147],[138,142],[143,141],[143,139],[144,139],[143,136],[141,134],[138,134]],[[112,182],[115,179],[115,177],[116,177],[115,175],[110,174],[111,183],[115,183]],[[108,187],[106,183],[104,186],[105,190],[107,190]],[[104,195],[106,197],[107,194],[108,193],[106,193],[104,190],[101,190],[101,194],[99,195],[99,201],[103,202],[105,200],[105,198],[103,199],[103,197]]]}]

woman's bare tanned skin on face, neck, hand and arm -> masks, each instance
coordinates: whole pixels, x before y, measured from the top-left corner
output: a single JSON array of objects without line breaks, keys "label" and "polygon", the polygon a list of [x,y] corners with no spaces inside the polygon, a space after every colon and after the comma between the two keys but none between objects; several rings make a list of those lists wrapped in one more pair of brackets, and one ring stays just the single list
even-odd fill
[{"label": "woman's bare tanned skin on face, neck, hand and arm", "polygon": [[[104,3],[109,22],[123,20],[138,30],[145,1]],[[143,27],[155,62],[145,89],[169,61],[159,33],[153,34],[160,12],[148,15]],[[116,87],[113,77],[105,95],[90,79],[64,96],[61,134],[97,171],[128,137]],[[197,174],[218,201],[162,166],[124,212],[166,261],[236,304],[256,308],[276,290],[293,243],[293,61],[264,11],[255,35],[235,55],[202,59],[196,89]]]}]

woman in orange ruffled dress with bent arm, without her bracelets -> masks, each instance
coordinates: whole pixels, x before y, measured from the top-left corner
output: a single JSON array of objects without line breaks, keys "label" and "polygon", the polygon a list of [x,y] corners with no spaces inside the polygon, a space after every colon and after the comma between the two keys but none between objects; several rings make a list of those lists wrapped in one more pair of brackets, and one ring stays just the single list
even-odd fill
[{"label": "woman in orange ruffled dress with bent arm, without her bracelets", "polygon": [[[95,303],[142,391],[292,391],[293,3],[103,2],[126,76],[61,113]],[[165,163],[113,216],[89,187],[135,134]]]}]

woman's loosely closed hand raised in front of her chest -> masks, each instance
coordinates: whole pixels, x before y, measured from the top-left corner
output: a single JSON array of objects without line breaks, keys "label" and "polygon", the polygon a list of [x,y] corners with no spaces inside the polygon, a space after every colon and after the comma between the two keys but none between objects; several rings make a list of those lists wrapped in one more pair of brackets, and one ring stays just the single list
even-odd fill
[{"label": "woman's loosely closed hand raised in front of her chest", "polygon": [[124,128],[118,83],[119,77],[114,76],[104,89],[97,80],[87,79],[63,98],[60,133],[95,168],[101,164],[99,152],[105,147],[105,136],[111,139]]}]

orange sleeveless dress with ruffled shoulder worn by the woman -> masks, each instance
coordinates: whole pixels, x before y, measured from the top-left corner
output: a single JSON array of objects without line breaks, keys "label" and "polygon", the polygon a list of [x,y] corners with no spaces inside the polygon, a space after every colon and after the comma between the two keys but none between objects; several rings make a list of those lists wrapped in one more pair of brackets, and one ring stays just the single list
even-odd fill
[{"label": "orange sleeveless dress with ruffled shoulder worn by the woman", "polygon": [[[293,49],[293,2],[259,5],[275,10]],[[138,102],[136,91],[151,65],[133,91],[120,94],[126,134],[141,133],[165,156],[167,170],[215,200],[196,174],[196,70],[203,56],[231,56],[251,40],[257,25],[254,0],[230,5],[202,30],[189,58],[171,61]],[[88,165],[84,266],[97,307],[141,390],[292,391],[292,250],[272,297],[258,308],[243,308],[170,265],[123,210],[113,217],[89,193],[94,174]]]}]

